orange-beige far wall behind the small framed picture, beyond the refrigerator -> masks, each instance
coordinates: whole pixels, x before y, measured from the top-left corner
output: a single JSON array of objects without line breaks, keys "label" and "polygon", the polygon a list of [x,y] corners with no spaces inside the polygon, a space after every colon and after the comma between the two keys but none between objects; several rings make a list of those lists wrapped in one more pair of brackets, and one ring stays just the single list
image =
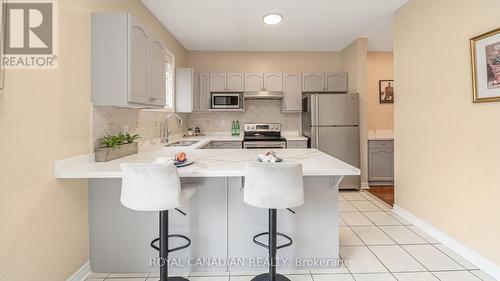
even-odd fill
[{"label": "orange-beige far wall behind the small framed picture, beyond the refrigerator", "polygon": [[379,102],[379,80],[393,80],[392,52],[368,52],[368,130],[393,129],[394,105]]}]

